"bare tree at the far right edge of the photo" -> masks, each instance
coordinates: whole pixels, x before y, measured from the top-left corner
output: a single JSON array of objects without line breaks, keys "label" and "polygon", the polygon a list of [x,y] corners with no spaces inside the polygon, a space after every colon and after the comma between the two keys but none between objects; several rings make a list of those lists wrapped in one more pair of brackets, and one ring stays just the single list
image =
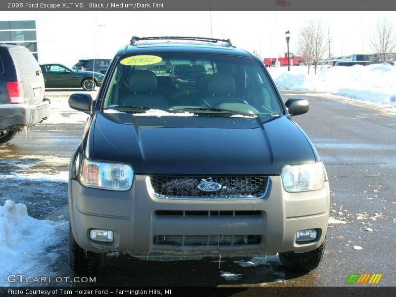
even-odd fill
[{"label": "bare tree at the far right edge of the photo", "polygon": [[388,61],[390,54],[396,48],[395,28],[387,17],[377,19],[371,35],[370,47],[379,63]]}]

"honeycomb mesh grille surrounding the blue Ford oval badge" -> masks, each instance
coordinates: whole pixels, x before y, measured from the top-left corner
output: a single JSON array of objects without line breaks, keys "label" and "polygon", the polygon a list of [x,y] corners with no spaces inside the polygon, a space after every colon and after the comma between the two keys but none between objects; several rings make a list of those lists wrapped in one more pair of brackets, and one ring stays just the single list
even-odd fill
[{"label": "honeycomb mesh grille surrounding the blue Ford oval badge", "polygon": [[[222,187],[205,192],[198,189],[203,182]],[[266,176],[150,176],[154,195],[159,198],[258,198],[263,196],[267,182]]]}]

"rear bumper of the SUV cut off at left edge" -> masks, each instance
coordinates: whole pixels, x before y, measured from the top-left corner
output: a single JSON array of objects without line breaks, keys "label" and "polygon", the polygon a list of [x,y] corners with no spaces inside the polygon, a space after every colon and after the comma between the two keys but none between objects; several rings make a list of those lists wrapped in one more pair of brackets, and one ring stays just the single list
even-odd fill
[{"label": "rear bumper of the SUV cut off at left edge", "polygon": [[0,104],[0,129],[20,129],[32,126],[48,118],[51,112],[49,100],[40,104]]}]

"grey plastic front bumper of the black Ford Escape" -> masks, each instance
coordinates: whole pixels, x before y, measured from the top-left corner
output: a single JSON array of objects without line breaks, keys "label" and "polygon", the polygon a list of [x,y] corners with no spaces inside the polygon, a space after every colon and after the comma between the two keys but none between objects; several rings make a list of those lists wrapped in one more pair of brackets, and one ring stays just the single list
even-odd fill
[{"label": "grey plastic front bumper of the black Ford Escape", "polygon": [[[139,175],[135,176],[132,188],[125,192],[87,188],[71,179],[68,196],[71,227],[80,247],[134,255],[260,255],[309,251],[324,241],[330,207],[328,182],[321,190],[288,193],[283,189],[280,176],[271,176],[264,197],[255,199],[156,198],[148,177]],[[183,215],[161,215],[166,211],[183,211]],[[189,211],[232,211],[233,215],[185,215]],[[235,215],[234,211],[254,211],[254,215]],[[113,230],[114,242],[92,241],[91,229]],[[317,239],[297,244],[297,231],[305,229],[317,229]],[[154,238],[162,235],[259,235],[261,242],[199,246],[154,243]]]}]

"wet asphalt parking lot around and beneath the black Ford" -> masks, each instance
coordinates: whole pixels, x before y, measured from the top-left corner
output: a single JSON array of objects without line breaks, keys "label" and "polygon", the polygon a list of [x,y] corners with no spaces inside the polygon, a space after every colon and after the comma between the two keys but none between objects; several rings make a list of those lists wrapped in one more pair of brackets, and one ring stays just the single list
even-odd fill
[{"label": "wet asphalt parking lot around and beneath the black Ford", "polygon": [[[68,163],[87,119],[87,114],[68,108],[72,93],[47,91],[51,118],[0,147],[1,205],[12,199],[26,204],[32,217],[67,220]],[[320,94],[281,93],[285,100],[309,100],[309,112],[294,119],[314,143],[330,180],[331,218],[320,266],[308,274],[292,274],[272,254],[253,259],[219,255],[200,261],[145,261],[114,253],[105,256],[106,269],[90,285],[343,286],[350,273],[381,273],[380,285],[395,285],[395,115]],[[73,276],[66,227],[50,251],[56,256],[48,259],[41,273]]]}]

